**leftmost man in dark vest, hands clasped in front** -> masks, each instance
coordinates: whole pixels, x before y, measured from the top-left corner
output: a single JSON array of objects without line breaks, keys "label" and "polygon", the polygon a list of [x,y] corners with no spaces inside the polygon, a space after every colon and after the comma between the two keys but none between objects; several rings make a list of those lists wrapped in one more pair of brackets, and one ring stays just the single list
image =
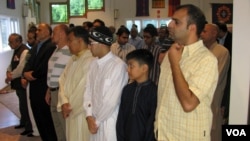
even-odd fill
[{"label": "leftmost man in dark vest, hands clasped in front", "polygon": [[15,126],[18,128],[25,128],[25,131],[21,135],[27,135],[32,133],[32,125],[29,118],[26,89],[21,85],[21,75],[25,65],[25,57],[29,51],[29,48],[22,43],[22,36],[13,33],[9,36],[9,45],[14,50],[11,63],[6,72],[6,83],[11,83],[11,88],[16,90],[16,94],[19,100],[19,110],[21,114],[20,125]]}]

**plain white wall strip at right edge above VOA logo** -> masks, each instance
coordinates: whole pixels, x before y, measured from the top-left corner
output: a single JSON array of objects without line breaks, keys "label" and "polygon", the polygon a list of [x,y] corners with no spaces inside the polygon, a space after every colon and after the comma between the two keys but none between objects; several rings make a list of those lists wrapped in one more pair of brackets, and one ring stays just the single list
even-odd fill
[{"label": "plain white wall strip at right edge above VOA logo", "polygon": [[249,13],[249,0],[234,0],[229,124],[247,124],[250,78]]}]

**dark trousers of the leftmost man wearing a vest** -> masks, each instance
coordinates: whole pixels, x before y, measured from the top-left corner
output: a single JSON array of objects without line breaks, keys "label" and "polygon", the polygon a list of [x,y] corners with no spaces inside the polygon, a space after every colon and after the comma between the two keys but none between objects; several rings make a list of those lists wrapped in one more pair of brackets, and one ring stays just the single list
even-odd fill
[{"label": "dark trousers of the leftmost man wearing a vest", "polygon": [[26,90],[16,90],[16,94],[19,100],[19,111],[21,114],[20,125],[24,125],[26,131],[32,131],[32,125],[28,111]]}]

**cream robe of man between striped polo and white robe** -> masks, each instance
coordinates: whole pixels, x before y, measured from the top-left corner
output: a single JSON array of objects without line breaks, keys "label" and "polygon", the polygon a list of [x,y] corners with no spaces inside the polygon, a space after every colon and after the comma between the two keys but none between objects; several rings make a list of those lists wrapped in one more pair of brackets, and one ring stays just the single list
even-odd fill
[{"label": "cream robe of man between striped polo and white robe", "polygon": [[83,109],[83,95],[86,85],[87,71],[93,60],[89,50],[81,56],[72,56],[59,78],[59,95],[57,110],[69,103],[72,109],[66,118],[67,141],[89,141],[89,130]]}]

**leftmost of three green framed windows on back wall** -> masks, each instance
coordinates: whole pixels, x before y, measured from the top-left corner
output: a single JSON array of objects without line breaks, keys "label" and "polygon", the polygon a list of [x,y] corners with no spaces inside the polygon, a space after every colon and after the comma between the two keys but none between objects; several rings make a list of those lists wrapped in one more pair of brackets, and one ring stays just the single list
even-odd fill
[{"label": "leftmost of three green framed windows on back wall", "polygon": [[50,3],[50,23],[68,24],[69,9],[67,2]]}]

